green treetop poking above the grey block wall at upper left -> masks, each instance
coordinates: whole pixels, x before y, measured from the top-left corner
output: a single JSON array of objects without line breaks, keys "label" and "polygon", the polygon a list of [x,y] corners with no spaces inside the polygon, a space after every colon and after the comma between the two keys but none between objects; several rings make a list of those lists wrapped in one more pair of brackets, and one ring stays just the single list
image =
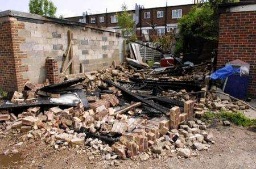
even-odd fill
[{"label": "green treetop poking above the grey block wall at upper left", "polygon": [[57,7],[48,0],[30,0],[30,13],[56,18]]}]

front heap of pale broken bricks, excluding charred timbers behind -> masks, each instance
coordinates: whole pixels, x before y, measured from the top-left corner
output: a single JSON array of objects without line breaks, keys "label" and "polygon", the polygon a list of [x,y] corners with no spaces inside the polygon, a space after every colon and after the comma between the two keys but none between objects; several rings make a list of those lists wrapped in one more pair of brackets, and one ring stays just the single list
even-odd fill
[{"label": "front heap of pale broken bricks, excluding charred timbers behind", "polygon": [[[92,109],[88,111],[84,110],[81,103],[67,109],[52,107],[44,112],[40,112],[40,107],[33,107],[20,113],[18,117],[14,113],[1,111],[0,120],[5,121],[5,132],[15,130],[16,133],[24,133],[23,141],[40,140],[55,149],[74,145],[91,146],[106,160],[117,157],[126,159],[137,155],[141,157],[143,152],[143,159],[149,158],[153,153],[165,155],[175,151],[183,157],[190,157],[190,147],[203,150],[210,147],[209,143],[214,143],[212,135],[204,131],[206,125],[203,122],[188,121],[186,124],[184,118],[187,114],[180,113],[179,107],[172,108],[170,112],[171,119],[178,120],[170,121],[163,117],[135,119],[134,111],[139,109],[128,111],[124,115],[117,113],[113,108],[116,105],[118,99],[114,95],[104,94],[100,100],[90,104]],[[191,116],[189,107],[186,111]],[[180,120],[184,123],[180,125],[180,129],[171,129],[177,128]],[[94,134],[94,138],[86,137],[81,128]],[[95,138],[114,136],[117,133],[121,137],[111,147],[102,142],[102,137]]]}]

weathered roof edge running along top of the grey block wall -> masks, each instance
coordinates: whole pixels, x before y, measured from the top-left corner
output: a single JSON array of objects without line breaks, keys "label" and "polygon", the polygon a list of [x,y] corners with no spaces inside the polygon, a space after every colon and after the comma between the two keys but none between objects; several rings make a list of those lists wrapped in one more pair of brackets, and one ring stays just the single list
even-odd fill
[{"label": "weathered roof edge running along top of the grey block wall", "polygon": [[98,31],[104,31],[104,32],[112,32],[112,33],[118,33],[118,34],[120,33],[119,31],[116,31],[114,29],[93,27],[93,26],[89,26],[86,23],[76,22],[68,19],[51,18],[48,16],[30,14],[26,12],[19,12],[19,11],[13,11],[13,10],[6,10],[6,11],[0,12],[0,18],[6,17],[6,16],[12,16],[14,18],[17,18],[26,22],[36,22],[36,23],[48,22],[48,23],[55,23],[55,24],[66,24],[66,25],[72,25],[72,26],[86,27],[90,29],[97,29]]}]

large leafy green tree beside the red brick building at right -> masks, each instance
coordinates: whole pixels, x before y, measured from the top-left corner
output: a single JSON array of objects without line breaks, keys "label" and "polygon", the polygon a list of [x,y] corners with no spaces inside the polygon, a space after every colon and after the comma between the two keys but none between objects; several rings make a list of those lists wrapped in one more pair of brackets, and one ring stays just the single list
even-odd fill
[{"label": "large leafy green tree beside the red brick building at right", "polygon": [[178,20],[180,38],[176,43],[176,52],[181,52],[185,36],[203,37],[218,40],[218,5],[237,0],[209,0],[192,7],[187,15]]}]

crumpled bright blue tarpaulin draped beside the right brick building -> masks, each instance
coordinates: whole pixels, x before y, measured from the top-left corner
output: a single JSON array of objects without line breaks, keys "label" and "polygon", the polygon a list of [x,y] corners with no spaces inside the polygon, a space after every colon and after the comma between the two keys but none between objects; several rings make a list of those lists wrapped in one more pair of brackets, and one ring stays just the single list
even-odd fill
[{"label": "crumpled bright blue tarpaulin draped beside the right brick building", "polygon": [[240,68],[234,68],[232,65],[227,65],[225,67],[222,67],[221,69],[218,69],[214,71],[211,75],[211,79],[225,79],[229,77],[232,74],[240,73]]}]

